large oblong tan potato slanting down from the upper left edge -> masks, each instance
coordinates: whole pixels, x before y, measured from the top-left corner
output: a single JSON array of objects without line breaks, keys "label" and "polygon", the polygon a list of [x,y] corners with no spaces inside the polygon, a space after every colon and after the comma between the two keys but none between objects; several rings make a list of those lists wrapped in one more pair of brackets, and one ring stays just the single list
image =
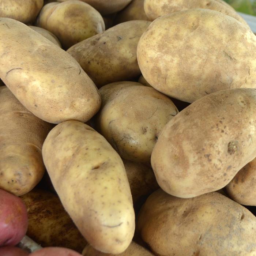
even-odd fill
[{"label": "large oblong tan potato slanting down from the upper left edge", "polygon": [[68,53],[16,20],[0,26],[0,78],[25,108],[49,123],[94,116],[98,90]]}]

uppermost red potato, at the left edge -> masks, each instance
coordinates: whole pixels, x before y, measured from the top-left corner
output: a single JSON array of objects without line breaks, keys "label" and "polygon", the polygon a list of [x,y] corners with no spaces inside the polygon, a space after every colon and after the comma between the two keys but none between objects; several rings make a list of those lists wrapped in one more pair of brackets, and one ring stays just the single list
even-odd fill
[{"label": "uppermost red potato, at the left edge", "polygon": [[18,196],[0,189],[0,247],[18,244],[25,236],[27,226],[25,204]]}]

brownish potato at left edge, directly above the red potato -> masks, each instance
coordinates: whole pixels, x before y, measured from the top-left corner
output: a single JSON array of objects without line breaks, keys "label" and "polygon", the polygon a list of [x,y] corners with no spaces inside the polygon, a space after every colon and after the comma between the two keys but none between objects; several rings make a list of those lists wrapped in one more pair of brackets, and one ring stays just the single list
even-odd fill
[{"label": "brownish potato at left edge, directly above the red potato", "polygon": [[0,87],[0,120],[0,188],[23,195],[44,175],[41,148],[52,124],[24,108],[6,86]]}]

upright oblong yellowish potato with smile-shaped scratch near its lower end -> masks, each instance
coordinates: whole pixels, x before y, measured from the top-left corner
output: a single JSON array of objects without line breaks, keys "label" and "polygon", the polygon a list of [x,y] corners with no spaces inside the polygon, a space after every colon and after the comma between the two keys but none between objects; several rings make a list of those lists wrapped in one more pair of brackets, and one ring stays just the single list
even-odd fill
[{"label": "upright oblong yellowish potato with smile-shaped scratch near its lower end", "polygon": [[98,251],[125,251],[135,229],[131,190],[106,139],[86,124],[65,121],[50,131],[42,152],[53,186],[86,240]]}]

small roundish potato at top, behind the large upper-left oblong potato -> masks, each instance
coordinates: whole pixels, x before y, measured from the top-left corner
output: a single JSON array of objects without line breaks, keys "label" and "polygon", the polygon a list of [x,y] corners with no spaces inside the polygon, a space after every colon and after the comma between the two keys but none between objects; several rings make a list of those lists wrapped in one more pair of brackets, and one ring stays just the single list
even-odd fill
[{"label": "small roundish potato at top, behind the large upper-left oblong potato", "polygon": [[78,0],[46,4],[38,16],[37,25],[56,35],[64,49],[105,31],[100,13]]}]

